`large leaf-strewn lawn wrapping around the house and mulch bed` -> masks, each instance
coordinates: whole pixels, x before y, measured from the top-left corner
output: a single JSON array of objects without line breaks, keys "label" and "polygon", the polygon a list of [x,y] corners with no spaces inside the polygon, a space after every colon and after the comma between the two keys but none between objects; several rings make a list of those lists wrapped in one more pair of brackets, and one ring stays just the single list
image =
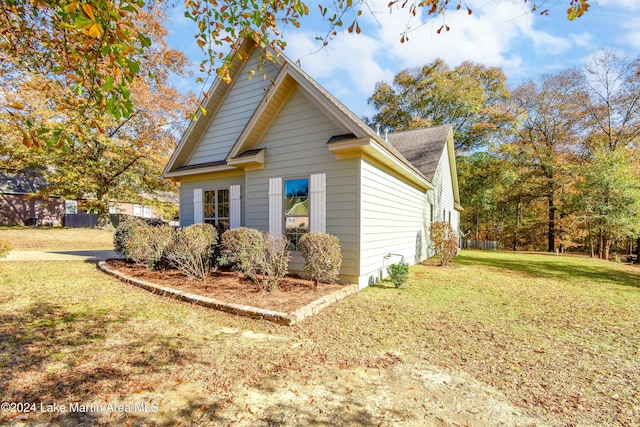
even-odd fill
[{"label": "large leaf-strewn lawn wrapping around the house and mulch bed", "polygon": [[0,424],[640,424],[635,266],[466,251],[292,327],[24,266],[0,265],[0,396],[100,410]]}]

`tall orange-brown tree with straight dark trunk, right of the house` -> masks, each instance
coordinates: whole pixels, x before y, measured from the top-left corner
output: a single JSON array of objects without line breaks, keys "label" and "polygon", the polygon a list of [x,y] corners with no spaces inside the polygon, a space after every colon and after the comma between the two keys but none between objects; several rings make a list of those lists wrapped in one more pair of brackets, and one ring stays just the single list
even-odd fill
[{"label": "tall orange-brown tree with straight dark trunk, right of the house", "polygon": [[557,221],[564,209],[564,195],[572,185],[571,171],[578,161],[580,133],[585,125],[581,105],[584,91],[574,84],[580,79],[568,70],[527,82],[512,92],[512,111],[517,117],[514,137],[501,147],[515,166],[519,180],[531,195],[545,201],[547,250],[556,249]]}]

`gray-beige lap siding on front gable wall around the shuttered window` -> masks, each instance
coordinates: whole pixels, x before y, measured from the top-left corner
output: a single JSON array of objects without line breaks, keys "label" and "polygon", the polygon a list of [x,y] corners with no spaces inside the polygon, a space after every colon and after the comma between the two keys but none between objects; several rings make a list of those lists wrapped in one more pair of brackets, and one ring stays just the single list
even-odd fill
[{"label": "gray-beige lap siding on front gable wall around the shuttered window", "polygon": [[[258,145],[266,148],[264,169],[247,172],[247,227],[269,229],[269,178],[326,173],[326,231],[340,239],[341,275],[355,278],[359,162],[335,160],[327,148],[329,138],[344,133],[302,92],[295,90]],[[302,257],[298,253],[293,254],[290,269],[302,270]]]}]

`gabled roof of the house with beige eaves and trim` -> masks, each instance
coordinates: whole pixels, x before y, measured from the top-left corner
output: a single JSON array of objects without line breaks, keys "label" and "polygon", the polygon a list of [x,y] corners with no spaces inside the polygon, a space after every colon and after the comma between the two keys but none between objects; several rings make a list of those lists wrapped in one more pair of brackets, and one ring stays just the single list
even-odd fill
[{"label": "gabled roof of the house with beige eaves and trim", "polygon": [[[255,43],[250,39],[238,43],[238,46],[238,51],[242,54],[234,55],[234,62],[230,70],[232,82],[237,78],[246,78],[240,76],[240,71],[256,50]],[[275,53],[272,53],[275,56]],[[387,141],[294,62],[284,55],[279,55],[277,58],[278,64],[281,66],[277,76],[265,90],[262,100],[244,126],[226,159],[185,166],[232,86],[232,83],[225,83],[218,78],[209,89],[209,96],[204,103],[204,108],[207,110],[206,116],[198,112],[197,120],[191,122],[165,168],[165,176],[176,177],[186,174],[238,170],[237,168],[242,167],[261,167],[264,162],[264,151],[256,151],[256,146],[286,104],[289,96],[298,89],[343,129],[344,134],[336,135],[327,142],[329,150],[334,152],[336,156],[367,153],[378,161],[398,170],[421,188],[433,188],[431,181],[438,160],[448,139],[452,141],[453,138],[451,126],[444,125],[431,129],[389,134]],[[453,144],[451,144],[451,150],[453,150]],[[450,153],[450,157],[451,155],[453,152]],[[455,159],[452,167],[452,173],[455,175]],[[457,177],[452,177],[452,180],[454,180],[454,192],[457,197]],[[458,202],[457,198],[456,202]]]}]

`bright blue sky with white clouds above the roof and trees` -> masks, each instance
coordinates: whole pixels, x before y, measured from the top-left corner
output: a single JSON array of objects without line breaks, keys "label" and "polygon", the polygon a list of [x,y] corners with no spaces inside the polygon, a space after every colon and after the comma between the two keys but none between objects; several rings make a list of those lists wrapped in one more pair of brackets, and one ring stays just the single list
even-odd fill
[{"label": "bright blue sky with white clouds above the roof and trees", "polygon": [[[600,45],[605,40],[613,39],[614,35],[622,37],[623,27],[628,27],[624,32],[625,43],[640,49],[637,30],[640,23],[627,24],[629,19],[617,23],[615,28],[608,26],[609,33],[603,37],[586,22],[580,21],[578,25],[566,21],[564,8],[541,17],[531,12],[528,3],[468,0],[472,14],[464,9],[452,10],[443,20],[440,15],[429,16],[424,9],[418,9],[417,15],[409,19],[407,9],[394,9],[390,13],[387,0],[377,0],[378,5],[374,1],[367,3],[373,13],[365,12],[359,18],[361,35],[338,34],[319,53],[307,55],[320,46],[308,32],[309,27],[305,27],[307,32],[292,31],[287,37],[286,54],[294,60],[301,58],[303,68],[311,76],[358,114],[371,114],[366,99],[377,81],[391,82],[399,71],[436,58],[442,58],[451,67],[463,61],[500,67],[514,84],[535,79],[544,72],[583,64],[589,52],[605,47]],[[600,3],[613,5],[602,0]],[[636,7],[636,2],[621,4]],[[640,2],[638,5],[640,9]],[[598,13],[598,9],[592,8],[589,13]],[[450,30],[443,29],[438,34],[437,29],[443,23]],[[346,26],[349,24],[346,22]],[[606,25],[602,22],[598,28]],[[400,43],[407,28],[409,40]]]}]

